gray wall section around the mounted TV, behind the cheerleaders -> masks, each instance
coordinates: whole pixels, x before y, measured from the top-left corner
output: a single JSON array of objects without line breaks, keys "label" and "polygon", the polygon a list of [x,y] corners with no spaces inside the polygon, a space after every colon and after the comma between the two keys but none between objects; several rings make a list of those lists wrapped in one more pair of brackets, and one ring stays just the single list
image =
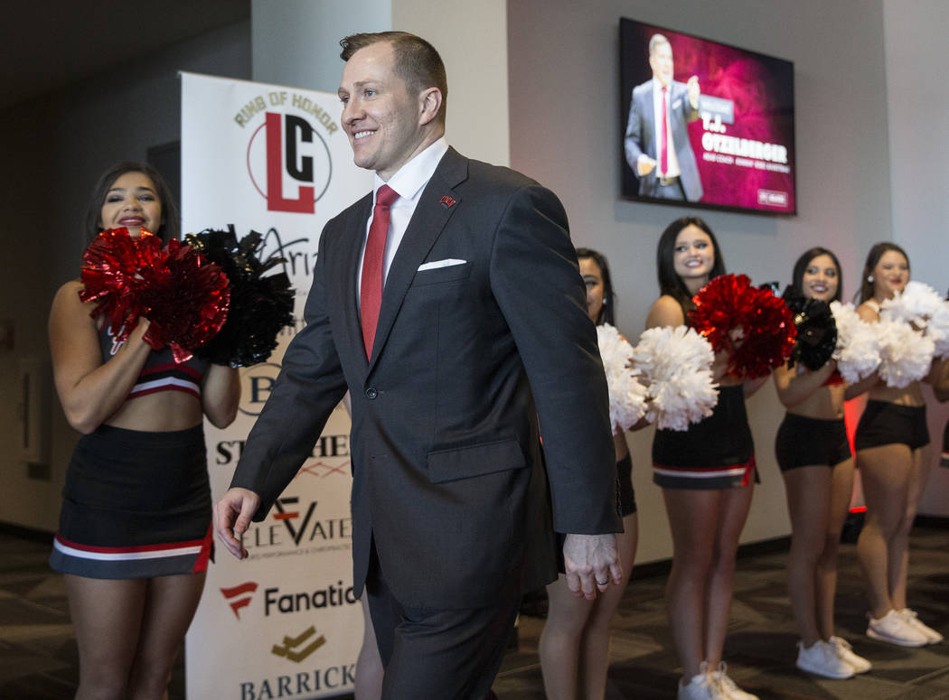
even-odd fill
[{"label": "gray wall section around the mounted TV, behind the cheerleaders", "polygon": [[[730,271],[788,282],[805,249],[828,246],[856,289],[862,256],[892,237],[884,12],[880,2],[801,0],[518,0],[508,5],[512,167],[561,195],[577,245],[605,252],[619,295],[618,324],[642,332],[658,296],[656,243],[674,218],[698,213]],[[620,199],[619,18],[742,46],[794,63],[797,199],[794,217],[767,217]],[[939,53],[936,56],[941,56]],[[748,402],[762,484],[743,534],[790,531],[773,457],[782,410],[772,384]],[[640,504],[638,561],[669,556],[660,489],[651,482],[652,429],[630,436]]]}]

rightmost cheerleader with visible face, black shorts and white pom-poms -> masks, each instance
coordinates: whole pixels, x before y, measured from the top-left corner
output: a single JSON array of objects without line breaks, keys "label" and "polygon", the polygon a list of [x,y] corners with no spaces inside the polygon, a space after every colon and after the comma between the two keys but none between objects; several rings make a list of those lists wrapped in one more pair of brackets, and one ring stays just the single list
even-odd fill
[{"label": "rightmost cheerleader with visible face, black shorts and white pom-poms", "polygon": [[[866,256],[857,313],[879,322],[882,304],[909,282],[909,259],[892,243],[878,243]],[[909,531],[929,476],[929,433],[920,382],[904,388],[878,382],[868,394],[854,448],[866,514],[857,555],[870,610],[866,635],[904,647],[942,640],[906,605]]]}]

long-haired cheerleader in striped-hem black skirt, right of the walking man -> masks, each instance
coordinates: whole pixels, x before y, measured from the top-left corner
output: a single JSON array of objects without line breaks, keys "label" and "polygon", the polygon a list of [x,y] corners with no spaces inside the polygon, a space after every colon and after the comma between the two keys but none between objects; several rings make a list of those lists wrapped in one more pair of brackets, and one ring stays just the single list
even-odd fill
[{"label": "long-haired cheerleader in striped-hem black skirt, right of the walking man", "polygon": [[[680,218],[662,232],[657,265],[661,297],[649,310],[646,328],[686,324],[692,297],[725,272],[715,234],[695,217]],[[754,488],[745,397],[766,378],[726,376],[724,354],[714,369],[715,413],[686,432],[657,430],[653,442],[653,481],[662,488],[673,540],[666,607],[683,669],[679,700],[754,700],[728,677],[721,655],[738,536]]]}]

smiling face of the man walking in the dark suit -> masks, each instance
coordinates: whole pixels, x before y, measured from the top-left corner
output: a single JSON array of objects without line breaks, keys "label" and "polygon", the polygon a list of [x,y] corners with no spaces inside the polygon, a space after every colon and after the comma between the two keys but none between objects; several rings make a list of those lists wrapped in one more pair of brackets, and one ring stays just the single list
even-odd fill
[{"label": "smiling face of the man walking in the dark suit", "polygon": [[338,91],[354,162],[385,181],[441,136],[429,114],[437,88],[413,95],[395,68],[391,44],[365,46],[346,62]]}]

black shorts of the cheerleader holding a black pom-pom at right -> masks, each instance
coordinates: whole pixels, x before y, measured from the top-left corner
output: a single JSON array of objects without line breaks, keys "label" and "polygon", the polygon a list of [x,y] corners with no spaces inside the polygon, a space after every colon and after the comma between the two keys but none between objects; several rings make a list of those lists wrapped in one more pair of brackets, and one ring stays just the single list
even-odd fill
[{"label": "black shorts of the cheerleader holding a black pom-pom at right", "polygon": [[811,465],[833,467],[852,456],[843,418],[826,420],[797,414],[784,416],[774,438],[774,453],[782,471]]}]

